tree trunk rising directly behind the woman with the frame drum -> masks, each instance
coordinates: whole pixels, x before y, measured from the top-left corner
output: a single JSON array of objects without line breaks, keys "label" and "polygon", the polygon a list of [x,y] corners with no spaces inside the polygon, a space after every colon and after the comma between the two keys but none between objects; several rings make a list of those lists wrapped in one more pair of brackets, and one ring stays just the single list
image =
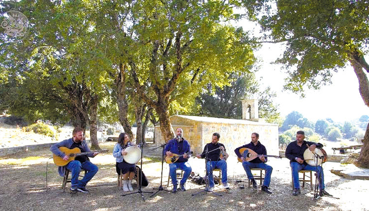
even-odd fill
[{"label": "tree trunk rising directly behind the woman with the frame drum", "polygon": [[124,132],[128,134],[129,138],[132,140],[133,132],[131,130],[131,125],[128,121],[128,103],[125,97],[125,73],[124,65],[120,64],[120,72],[117,78],[117,104],[118,104],[118,116],[121,125],[123,126]]}]

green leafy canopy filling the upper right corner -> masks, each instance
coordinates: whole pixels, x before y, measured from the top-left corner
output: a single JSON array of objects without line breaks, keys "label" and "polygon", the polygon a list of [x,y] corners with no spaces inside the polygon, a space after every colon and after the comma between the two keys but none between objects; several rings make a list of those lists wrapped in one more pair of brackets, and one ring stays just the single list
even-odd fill
[{"label": "green leafy canopy filling the upper right corner", "polygon": [[[368,2],[362,0],[244,0],[270,38],[287,48],[278,63],[286,66],[285,89],[301,92],[330,83],[347,61],[366,67]],[[277,4],[277,7],[268,6]],[[257,16],[259,15],[260,16]]]}]

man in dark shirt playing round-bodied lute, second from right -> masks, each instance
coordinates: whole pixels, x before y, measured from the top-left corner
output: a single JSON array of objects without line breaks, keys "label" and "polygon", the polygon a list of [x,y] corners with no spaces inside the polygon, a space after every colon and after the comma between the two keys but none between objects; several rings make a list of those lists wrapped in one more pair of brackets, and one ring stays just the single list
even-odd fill
[{"label": "man in dark shirt playing round-bodied lute, second from right", "polygon": [[[254,151],[255,153],[258,154],[258,157],[249,161],[246,161],[244,156],[241,155],[240,153],[240,149],[241,148],[248,148],[252,151]],[[247,178],[248,180],[251,180],[252,182],[252,186],[254,188],[257,188],[257,184],[256,181],[254,179],[254,176],[251,173],[251,168],[262,168],[265,169],[265,179],[264,179],[264,183],[261,186],[261,190],[266,192],[266,193],[272,193],[272,191],[270,191],[269,185],[270,185],[270,180],[271,180],[271,176],[272,176],[272,171],[273,168],[272,166],[266,164],[266,162],[268,161],[267,158],[267,149],[265,148],[264,145],[262,145],[259,141],[259,134],[256,132],[253,132],[251,134],[251,142],[248,144],[245,144],[244,146],[238,147],[237,149],[235,149],[235,153],[236,155],[241,158],[242,160],[242,165],[244,166],[244,169],[246,171],[247,174]]]}]

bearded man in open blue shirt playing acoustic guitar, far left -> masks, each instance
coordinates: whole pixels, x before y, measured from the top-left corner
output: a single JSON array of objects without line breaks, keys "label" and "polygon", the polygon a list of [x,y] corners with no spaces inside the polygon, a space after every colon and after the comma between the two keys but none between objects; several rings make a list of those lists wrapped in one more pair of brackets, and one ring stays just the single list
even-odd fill
[{"label": "bearded man in open blue shirt playing acoustic guitar, far left", "polygon": [[[88,157],[95,157],[98,153],[91,152],[90,148],[87,146],[86,141],[84,140],[84,130],[82,128],[75,128],[72,132],[73,137],[63,140],[62,142],[56,143],[50,147],[50,151],[54,153],[54,155],[62,158],[63,160],[69,160],[69,156],[65,155],[59,148],[66,147],[68,149],[78,148],[83,154],[82,156],[77,156],[74,160],[70,161],[68,164],[64,166],[59,166],[59,174],[60,176],[64,175],[65,168],[69,169],[72,172],[71,182],[71,191],[80,191],[84,193],[88,193],[89,190],[86,189],[86,184],[92,179],[92,177],[97,173],[98,168],[95,164],[90,162]],[[91,153],[88,153],[91,152]],[[79,173],[81,169],[86,170],[87,173],[83,177],[82,180],[78,180]]]}]

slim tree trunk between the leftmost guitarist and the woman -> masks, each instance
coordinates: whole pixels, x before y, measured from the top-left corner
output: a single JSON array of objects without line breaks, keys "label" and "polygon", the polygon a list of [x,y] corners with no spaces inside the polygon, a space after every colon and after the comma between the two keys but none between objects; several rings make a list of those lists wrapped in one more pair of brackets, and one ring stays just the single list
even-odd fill
[{"label": "slim tree trunk between the leftmost guitarist and the woman", "polygon": [[100,150],[99,142],[97,140],[97,96],[93,96],[90,101],[90,139],[91,139],[91,149],[92,150]]}]

